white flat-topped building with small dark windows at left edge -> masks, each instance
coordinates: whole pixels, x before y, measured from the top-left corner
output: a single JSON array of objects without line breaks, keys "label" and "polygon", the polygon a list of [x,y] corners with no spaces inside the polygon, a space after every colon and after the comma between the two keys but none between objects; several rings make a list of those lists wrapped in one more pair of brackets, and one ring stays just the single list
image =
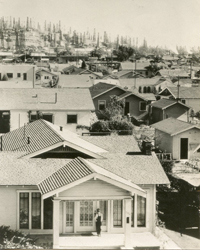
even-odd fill
[{"label": "white flat-topped building with small dark windows at left edge", "polygon": [[34,81],[34,76],[35,66],[33,65],[0,65],[0,81],[4,81],[5,77],[8,78],[8,80]]}]

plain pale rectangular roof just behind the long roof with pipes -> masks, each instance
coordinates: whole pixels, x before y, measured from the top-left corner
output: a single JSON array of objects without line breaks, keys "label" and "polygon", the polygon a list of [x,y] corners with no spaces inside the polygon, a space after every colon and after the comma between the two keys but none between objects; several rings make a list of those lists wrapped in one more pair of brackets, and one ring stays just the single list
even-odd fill
[{"label": "plain pale rectangular roof just behind the long roof with pipes", "polygon": [[61,88],[89,88],[93,79],[88,75],[60,75],[58,86]]}]

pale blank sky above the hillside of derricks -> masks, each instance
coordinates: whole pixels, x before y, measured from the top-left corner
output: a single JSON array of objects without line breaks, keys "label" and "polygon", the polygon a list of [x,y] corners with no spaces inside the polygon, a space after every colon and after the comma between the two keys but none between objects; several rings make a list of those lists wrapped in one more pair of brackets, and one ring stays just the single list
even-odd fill
[{"label": "pale blank sky above the hillside of derricks", "polygon": [[0,0],[0,16],[58,23],[66,31],[107,31],[148,45],[200,46],[200,0]]}]

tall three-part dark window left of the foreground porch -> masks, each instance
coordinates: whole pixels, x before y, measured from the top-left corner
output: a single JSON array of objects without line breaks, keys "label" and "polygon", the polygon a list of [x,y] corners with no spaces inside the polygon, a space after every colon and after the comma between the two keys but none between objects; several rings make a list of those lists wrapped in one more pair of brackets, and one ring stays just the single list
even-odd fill
[{"label": "tall three-part dark window left of the foreground porch", "polygon": [[19,229],[42,229],[42,202],[44,229],[52,229],[53,202],[51,198],[43,201],[36,191],[19,193]]}]

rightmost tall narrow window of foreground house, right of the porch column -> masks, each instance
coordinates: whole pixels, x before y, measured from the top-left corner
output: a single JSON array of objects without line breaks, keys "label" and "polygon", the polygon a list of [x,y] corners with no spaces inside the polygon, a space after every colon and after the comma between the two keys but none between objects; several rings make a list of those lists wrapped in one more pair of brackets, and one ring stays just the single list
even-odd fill
[{"label": "rightmost tall narrow window of foreground house, right of the porch column", "polygon": [[146,226],[146,199],[142,196],[137,196],[137,226]]}]

